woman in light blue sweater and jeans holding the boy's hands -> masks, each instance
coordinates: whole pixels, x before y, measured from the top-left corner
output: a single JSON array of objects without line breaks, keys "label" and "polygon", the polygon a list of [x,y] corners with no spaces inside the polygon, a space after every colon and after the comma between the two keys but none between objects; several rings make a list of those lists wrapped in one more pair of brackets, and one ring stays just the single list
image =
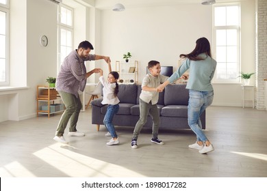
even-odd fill
[{"label": "woman in light blue sweater and jeans holding the boy's hands", "polygon": [[217,62],[212,59],[209,41],[207,38],[199,38],[196,40],[196,47],[192,53],[182,54],[180,58],[184,58],[185,61],[165,83],[159,86],[159,89],[163,90],[166,85],[173,83],[186,70],[190,69],[190,78],[188,78],[188,84],[186,85],[186,89],[189,89],[188,125],[196,134],[196,143],[188,145],[188,147],[198,149],[199,153],[202,154],[214,151],[212,143],[210,143],[202,130],[200,120],[201,114],[207,106],[212,104],[214,98],[211,82]]}]

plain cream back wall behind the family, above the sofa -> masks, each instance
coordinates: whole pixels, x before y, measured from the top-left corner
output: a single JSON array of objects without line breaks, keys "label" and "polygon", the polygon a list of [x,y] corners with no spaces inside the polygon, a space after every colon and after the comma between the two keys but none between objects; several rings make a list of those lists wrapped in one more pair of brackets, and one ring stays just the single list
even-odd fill
[{"label": "plain cream back wall behind the family, above the sofa", "polygon": [[173,65],[176,70],[179,55],[191,51],[196,39],[205,36],[212,42],[211,6],[133,8],[125,12],[104,10],[101,16],[102,53],[108,53],[115,63],[123,60],[124,53],[131,52],[131,60],[140,62],[139,82],[150,60]]}]

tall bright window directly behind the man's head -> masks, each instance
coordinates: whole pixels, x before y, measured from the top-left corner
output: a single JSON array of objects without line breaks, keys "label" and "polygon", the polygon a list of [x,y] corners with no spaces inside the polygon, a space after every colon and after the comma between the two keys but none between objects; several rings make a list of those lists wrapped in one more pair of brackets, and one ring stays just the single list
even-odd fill
[{"label": "tall bright window directly behind the man's head", "polygon": [[59,12],[58,39],[60,53],[59,62],[61,65],[64,61],[64,58],[71,53],[71,50],[73,50],[73,10],[65,5],[60,5]]}]

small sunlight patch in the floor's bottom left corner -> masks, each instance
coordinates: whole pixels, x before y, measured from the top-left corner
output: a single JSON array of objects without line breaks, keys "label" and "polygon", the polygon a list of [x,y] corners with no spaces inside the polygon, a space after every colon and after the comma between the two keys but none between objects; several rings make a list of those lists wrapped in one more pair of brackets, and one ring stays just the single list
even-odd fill
[{"label": "small sunlight patch in the floor's bottom left corner", "polygon": [[36,177],[19,162],[10,162],[0,168],[0,177]]}]

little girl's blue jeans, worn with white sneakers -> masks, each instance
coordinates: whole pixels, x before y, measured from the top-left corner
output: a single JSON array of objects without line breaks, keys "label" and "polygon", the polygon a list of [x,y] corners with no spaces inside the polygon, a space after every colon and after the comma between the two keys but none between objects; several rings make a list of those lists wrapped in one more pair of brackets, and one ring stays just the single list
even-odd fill
[{"label": "little girl's blue jeans, worn with white sneakers", "polygon": [[118,137],[116,134],[115,127],[112,124],[112,119],[113,119],[114,115],[116,113],[118,113],[119,108],[120,108],[120,106],[118,106],[118,104],[108,105],[107,106],[107,113],[105,113],[105,117],[104,117],[104,121],[103,121],[105,128],[107,128],[108,132],[110,132],[110,134],[113,138]]}]

